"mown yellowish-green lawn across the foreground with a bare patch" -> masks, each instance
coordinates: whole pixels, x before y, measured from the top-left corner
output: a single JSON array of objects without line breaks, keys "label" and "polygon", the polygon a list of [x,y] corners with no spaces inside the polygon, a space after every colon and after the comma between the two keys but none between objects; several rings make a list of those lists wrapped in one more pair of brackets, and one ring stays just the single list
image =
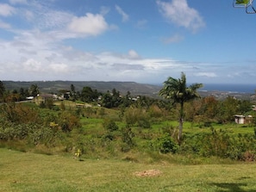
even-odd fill
[{"label": "mown yellowish-green lawn across the foreground with a bare patch", "polygon": [[78,161],[3,148],[0,154],[0,191],[256,191],[256,164]]}]

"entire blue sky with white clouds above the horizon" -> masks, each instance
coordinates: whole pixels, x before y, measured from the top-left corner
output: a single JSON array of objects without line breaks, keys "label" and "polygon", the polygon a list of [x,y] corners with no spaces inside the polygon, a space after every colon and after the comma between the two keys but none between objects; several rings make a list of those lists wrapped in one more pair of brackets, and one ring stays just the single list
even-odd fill
[{"label": "entire blue sky with white clouds above the horizon", "polygon": [[0,0],[0,80],[256,84],[255,30],[233,0]]}]

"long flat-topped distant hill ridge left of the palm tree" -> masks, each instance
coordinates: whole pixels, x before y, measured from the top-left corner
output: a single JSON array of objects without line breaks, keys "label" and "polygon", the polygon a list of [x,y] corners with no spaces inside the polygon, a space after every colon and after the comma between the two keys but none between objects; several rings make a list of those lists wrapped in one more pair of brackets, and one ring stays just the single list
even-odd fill
[{"label": "long flat-topped distant hill ridge left of the palm tree", "polygon": [[83,87],[89,86],[92,90],[101,92],[112,91],[116,89],[122,95],[129,91],[132,96],[158,96],[161,89],[158,85],[138,84],[135,82],[103,82],[103,81],[3,81],[7,90],[19,90],[20,88],[29,89],[31,84],[37,84],[41,92],[58,93],[59,90],[70,90],[71,84],[77,91],[83,90]]}]

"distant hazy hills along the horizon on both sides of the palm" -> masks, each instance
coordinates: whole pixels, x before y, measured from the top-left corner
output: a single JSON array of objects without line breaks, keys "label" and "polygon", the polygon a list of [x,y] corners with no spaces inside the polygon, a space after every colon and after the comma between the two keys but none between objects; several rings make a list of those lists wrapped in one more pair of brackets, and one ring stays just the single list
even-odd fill
[{"label": "distant hazy hills along the horizon on both sides of the palm", "polygon": [[[107,92],[116,89],[122,95],[126,95],[129,91],[132,96],[151,96],[159,97],[160,85],[139,84],[135,82],[104,82],[104,81],[3,81],[7,90],[19,90],[20,88],[29,89],[31,84],[37,84],[42,93],[59,93],[59,90],[70,90],[71,84],[75,86],[76,91],[83,90],[89,86],[92,90],[99,92]],[[254,100],[251,93],[245,92],[230,92],[225,90],[199,90],[199,94],[204,96],[215,96],[216,99],[222,100],[227,96],[234,96],[237,99]]]}]

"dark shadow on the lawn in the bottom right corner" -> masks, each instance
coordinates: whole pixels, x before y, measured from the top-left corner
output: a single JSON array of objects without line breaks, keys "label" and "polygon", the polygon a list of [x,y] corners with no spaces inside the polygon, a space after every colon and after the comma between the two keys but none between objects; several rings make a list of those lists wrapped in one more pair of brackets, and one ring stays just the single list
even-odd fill
[{"label": "dark shadow on the lawn in the bottom right corner", "polygon": [[242,189],[247,186],[246,183],[210,183],[210,185],[216,186],[217,192],[256,192],[256,189]]}]

